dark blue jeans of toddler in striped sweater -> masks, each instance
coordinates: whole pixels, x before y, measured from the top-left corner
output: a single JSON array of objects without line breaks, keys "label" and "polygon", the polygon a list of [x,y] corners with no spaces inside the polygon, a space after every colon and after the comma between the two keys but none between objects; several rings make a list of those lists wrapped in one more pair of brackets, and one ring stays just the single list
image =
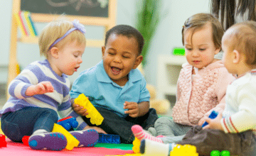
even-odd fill
[{"label": "dark blue jeans of toddler in striped sweater", "polygon": [[48,132],[58,122],[58,113],[50,108],[28,107],[18,111],[4,113],[1,117],[1,129],[7,138],[22,142],[25,135],[32,135],[38,129]]}]

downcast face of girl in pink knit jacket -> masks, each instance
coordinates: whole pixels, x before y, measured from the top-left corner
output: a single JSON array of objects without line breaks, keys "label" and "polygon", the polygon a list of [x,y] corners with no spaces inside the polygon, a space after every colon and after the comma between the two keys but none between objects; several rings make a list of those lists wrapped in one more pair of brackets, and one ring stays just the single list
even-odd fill
[{"label": "downcast face of girl in pink knit jacket", "polygon": [[214,61],[214,55],[220,51],[213,43],[213,30],[210,23],[197,30],[188,28],[184,33],[186,60],[199,70]]}]

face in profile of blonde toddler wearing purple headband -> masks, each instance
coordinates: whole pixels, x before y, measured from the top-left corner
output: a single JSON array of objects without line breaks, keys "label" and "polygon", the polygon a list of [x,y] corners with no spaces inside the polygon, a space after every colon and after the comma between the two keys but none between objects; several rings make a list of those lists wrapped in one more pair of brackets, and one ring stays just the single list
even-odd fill
[{"label": "face in profile of blonde toddler wearing purple headband", "polygon": [[80,64],[82,63],[82,54],[85,51],[85,44],[78,45],[76,41],[65,44],[63,48],[52,48],[57,50],[58,58],[53,70],[61,76],[62,74],[72,75],[78,71]]}]

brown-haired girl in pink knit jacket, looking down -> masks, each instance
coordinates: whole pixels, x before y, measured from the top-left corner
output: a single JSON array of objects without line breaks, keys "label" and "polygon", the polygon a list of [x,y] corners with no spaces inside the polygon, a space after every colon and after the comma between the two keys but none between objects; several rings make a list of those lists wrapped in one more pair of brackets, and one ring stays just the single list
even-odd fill
[{"label": "brown-haired girl in pink knit jacket, looking down", "polygon": [[202,125],[211,111],[223,111],[225,91],[235,78],[214,55],[221,50],[224,30],[217,18],[198,13],[186,20],[182,29],[187,63],[178,77],[173,118],[156,120],[154,128],[144,131],[133,126],[139,140],[177,143],[192,126]]}]

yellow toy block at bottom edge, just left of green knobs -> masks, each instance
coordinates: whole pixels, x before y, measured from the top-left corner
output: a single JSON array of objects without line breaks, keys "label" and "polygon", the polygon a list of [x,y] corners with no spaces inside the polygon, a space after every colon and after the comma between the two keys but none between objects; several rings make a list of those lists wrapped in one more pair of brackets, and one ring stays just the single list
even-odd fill
[{"label": "yellow toy block at bottom edge, just left of green knobs", "polygon": [[170,156],[198,156],[196,146],[193,145],[176,145],[170,152]]}]

